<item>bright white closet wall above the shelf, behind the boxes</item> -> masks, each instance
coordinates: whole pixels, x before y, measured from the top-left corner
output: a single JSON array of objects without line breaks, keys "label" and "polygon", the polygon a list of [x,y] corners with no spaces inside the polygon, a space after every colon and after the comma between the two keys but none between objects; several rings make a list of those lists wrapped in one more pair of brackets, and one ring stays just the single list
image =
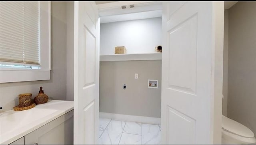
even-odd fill
[{"label": "bright white closet wall above the shelf, behind the boxes", "polygon": [[100,25],[100,55],[114,54],[115,46],[125,46],[127,54],[149,53],[158,45],[162,45],[162,18]]}]

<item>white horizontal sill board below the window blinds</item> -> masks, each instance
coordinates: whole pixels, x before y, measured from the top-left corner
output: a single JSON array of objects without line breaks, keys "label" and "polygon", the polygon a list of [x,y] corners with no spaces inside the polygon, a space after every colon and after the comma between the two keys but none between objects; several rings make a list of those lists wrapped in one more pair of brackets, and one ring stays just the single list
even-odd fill
[{"label": "white horizontal sill board below the window blinds", "polygon": [[50,70],[38,69],[0,69],[0,83],[49,80]]}]

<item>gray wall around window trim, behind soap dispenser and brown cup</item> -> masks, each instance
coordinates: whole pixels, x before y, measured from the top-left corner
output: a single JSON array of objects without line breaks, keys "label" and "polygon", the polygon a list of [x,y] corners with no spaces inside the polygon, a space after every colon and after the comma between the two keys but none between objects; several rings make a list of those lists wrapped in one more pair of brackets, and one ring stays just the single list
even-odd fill
[{"label": "gray wall around window trim, behind soap dispenser and brown cup", "polygon": [[66,100],[66,2],[52,2],[52,70],[50,80],[0,83],[1,111],[18,105],[18,94],[32,93],[43,87],[50,99]]}]

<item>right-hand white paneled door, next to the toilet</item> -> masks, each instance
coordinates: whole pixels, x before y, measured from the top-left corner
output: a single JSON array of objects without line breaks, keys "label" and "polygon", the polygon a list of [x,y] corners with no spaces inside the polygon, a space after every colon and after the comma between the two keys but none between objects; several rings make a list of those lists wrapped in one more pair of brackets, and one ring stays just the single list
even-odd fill
[{"label": "right-hand white paneled door, next to the toilet", "polygon": [[163,2],[163,144],[221,143],[223,14],[224,2]]}]

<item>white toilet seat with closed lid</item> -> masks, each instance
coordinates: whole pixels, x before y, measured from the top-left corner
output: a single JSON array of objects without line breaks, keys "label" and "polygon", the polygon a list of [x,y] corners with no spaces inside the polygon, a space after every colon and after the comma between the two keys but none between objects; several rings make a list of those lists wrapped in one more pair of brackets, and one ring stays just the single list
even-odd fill
[{"label": "white toilet seat with closed lid", "polygon": [[253,138],[254,133],[246,126],[222,115],[222,129],[240,137]]}]

